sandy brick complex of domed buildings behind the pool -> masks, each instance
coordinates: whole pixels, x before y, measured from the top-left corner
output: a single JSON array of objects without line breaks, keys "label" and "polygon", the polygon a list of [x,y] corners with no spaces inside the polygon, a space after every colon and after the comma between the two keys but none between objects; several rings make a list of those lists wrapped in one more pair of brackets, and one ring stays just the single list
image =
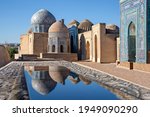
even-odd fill
[{"label": "sandy brick complex of domed buildings behind the pool", "polygon": [[96,24],[89,20],[73,20],[68,27],[64,20],[56,21],[47,10],[41,9],[31,18],[32,27],[21,36],[16,58],[60,58],[94,62],[116,61],[116,25]]}]

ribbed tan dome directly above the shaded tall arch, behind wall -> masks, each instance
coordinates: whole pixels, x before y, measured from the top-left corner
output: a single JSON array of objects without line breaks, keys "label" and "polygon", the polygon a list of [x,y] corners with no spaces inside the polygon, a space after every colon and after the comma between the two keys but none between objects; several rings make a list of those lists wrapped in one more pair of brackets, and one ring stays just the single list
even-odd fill
[{"label": "ribbed tan dome directly above the shaded tall arch, behind wall", "polygon": [[78,26],[79,29],[82,29],[84,31],[89,31],[92,29],[92,25],[93,23],[91,21],[89,21],[88,19],[85,19],[84,21],[82,21],[80,23],[80,25]]}]

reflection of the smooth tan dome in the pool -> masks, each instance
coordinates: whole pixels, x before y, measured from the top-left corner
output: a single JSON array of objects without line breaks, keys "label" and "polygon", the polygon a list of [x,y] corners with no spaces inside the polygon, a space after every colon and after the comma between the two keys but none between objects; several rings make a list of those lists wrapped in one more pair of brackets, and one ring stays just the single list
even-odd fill
[{"label": "reflection of the smooth tan dome in the pool", "polygon": [[50,77],[58,83],[64,84],[69,72],[70,70],[63,66],[49,66]]}]

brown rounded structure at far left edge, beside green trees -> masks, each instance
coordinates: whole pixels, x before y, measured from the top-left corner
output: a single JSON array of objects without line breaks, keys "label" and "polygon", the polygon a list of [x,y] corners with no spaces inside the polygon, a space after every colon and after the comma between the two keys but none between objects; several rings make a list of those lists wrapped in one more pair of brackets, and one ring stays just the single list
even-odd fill
[{"label": "brown rounded structure at far left edge, beside green trees", "polygon": [[10,61],[10,56],[7,49],[0,45],[0,67],[6,65]]}]

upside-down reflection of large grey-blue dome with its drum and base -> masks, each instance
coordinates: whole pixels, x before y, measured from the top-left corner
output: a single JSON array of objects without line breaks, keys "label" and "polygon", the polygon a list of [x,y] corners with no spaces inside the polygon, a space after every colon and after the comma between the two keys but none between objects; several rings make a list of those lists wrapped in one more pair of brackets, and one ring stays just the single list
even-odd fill
[{"label": "upside-down reflection of large grey-blue dome with its drum and base", "polygon": [[29,66],[26,67],[31,75],[31,84],[34,90],[42,95],[49,94],[56,87],[56,82],[49,76],[48,67]]}]

